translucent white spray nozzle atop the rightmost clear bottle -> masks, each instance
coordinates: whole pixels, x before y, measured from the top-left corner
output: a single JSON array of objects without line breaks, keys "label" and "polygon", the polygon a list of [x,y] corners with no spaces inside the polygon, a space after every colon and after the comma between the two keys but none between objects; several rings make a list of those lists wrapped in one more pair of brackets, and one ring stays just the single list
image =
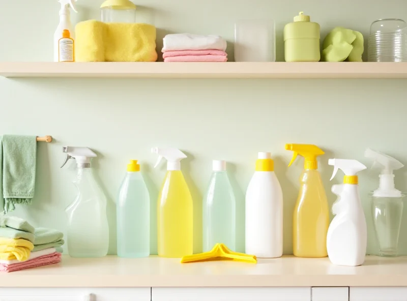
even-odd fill
[{"label": "translucent white spray nozzle atop the rightmost clear bottle", "polygon": [[377,152],[373,149],[366,149],[365,157],[373,161],[373,166],[381,165],[381,173],[379,175],[379,188],[373,192],[373,197],[401,197],[402,193],[394,187],[393,170],[400,169],[404,165],[396,159]]}]

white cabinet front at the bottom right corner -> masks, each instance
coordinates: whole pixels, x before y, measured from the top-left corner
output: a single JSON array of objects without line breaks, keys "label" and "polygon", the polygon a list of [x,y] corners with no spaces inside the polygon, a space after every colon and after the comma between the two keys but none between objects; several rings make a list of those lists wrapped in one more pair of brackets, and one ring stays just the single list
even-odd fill
[{"label": "white cabinet front at the bottom right corner", "polygon": [[349,300],[407,301],[407,287],[351,287]]}]

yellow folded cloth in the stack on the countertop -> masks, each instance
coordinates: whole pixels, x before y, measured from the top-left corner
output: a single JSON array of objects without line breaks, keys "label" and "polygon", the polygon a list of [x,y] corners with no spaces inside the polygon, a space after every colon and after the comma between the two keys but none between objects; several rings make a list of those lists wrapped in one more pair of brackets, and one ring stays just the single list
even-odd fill
[{"label": "yellow folded cloth in the stack on the countertop", "polygon": [[0,259],[25,261],[34,245],[29,240],[0,237]]}]

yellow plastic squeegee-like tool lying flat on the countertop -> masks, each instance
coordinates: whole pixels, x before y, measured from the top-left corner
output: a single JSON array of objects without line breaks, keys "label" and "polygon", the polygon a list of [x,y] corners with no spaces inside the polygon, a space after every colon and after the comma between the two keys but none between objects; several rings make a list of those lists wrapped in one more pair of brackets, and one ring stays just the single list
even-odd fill
[{"label": "yellow plastic squeegee-like tool lying flat on the countertop", "polygon": [[224,260],[224,259],[248,263],[257,263],[256,256],[230,251],[224,244],[216,244],[215,247],[210,252],[184,256],[181,259],[181,263]]}]

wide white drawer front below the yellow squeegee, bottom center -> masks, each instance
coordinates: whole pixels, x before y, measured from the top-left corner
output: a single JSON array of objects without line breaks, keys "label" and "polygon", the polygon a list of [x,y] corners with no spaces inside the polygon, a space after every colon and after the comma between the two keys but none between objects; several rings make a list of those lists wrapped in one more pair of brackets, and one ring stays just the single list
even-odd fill
[{"label": "wide white drawer front below the yellow squeegee, bottom center", "polygon": [[310,287],[152,288],[152,301],[310,301]]}]

